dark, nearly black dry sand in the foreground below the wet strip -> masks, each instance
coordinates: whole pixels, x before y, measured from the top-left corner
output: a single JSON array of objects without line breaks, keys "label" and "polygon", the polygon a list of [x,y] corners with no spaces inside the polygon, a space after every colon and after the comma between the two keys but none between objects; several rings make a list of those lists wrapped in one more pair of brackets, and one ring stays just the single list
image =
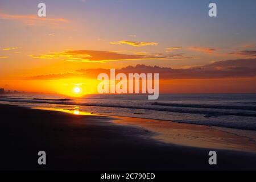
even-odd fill
[{"label": "dark, nearly black dry sand in the foreground below the wet strip", "polygon": [[[152,139],[139,127],[113,123],[115,117],[74,115],[0,105],[1,170],[174,170],[256,169],[256,154],[183,147]],[[38,165],[38,151],[47,165]],[[214,149],[213,149],[214,150]]]}]

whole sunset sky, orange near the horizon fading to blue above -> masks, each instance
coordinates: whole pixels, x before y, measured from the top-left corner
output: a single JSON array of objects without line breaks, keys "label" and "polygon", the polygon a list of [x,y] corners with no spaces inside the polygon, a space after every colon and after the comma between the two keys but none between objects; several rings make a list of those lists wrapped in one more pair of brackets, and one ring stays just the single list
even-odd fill
[{"label": "whole sunset sky, orange near the horizon fading to blue above", "polygon": [[131,66],[159,72],[163,93],[255,93],[255,8],[254,0],[3,0],[0,87],[68,94],[84,84],[89,94],[95,73]]}]

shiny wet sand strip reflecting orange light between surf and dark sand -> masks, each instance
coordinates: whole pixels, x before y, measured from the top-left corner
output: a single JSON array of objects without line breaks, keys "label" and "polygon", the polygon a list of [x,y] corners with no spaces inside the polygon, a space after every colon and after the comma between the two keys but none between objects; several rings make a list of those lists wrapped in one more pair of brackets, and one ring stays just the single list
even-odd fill
[{"label": "shiny wet sand strip reflecting orange light between surf and dark sand", "polygon": [[[254,130],[233,129],[200,124],[179,123],[163,119],[145,119],[102,115],[97,113],[32,107],[31,109],[61,111],[70,114],[111,117],[112,123],[122,126],[139,127],[154,133],[152,139],[180,146],[217,148],[220,150],[237,150],[256,153],[256,133]],[[184,132],[184,130],[186,130]],[[203,134],[197,134],[202,132]],[[195,134],[196,132],[196,134]],[[203,137],[201,137],[203,135]],[[207,139],[207,140],[205,140]]]}]

